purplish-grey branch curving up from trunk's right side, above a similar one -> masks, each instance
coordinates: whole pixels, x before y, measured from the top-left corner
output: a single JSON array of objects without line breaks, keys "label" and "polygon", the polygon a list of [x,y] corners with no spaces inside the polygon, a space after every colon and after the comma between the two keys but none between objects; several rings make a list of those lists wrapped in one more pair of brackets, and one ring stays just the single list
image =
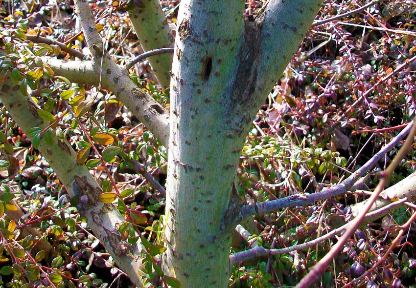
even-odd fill
[{"label": "purplish-grey branch curving up from trunk's right side, above a similar one", "polygon": [[241,218],[247,215],[262,215],[283,207],[293,207],[298,205],[303,206],[346,192],[366,171],[374,167],[387,152],[392,150],[393,147],[410,132],[413,123],[414,121],[410,122],[409,125],[403,129],[396,137],[394,137],[389,144],[383,146],[380,151],[371,157],[371,159],[366,164],[361,166],[340,184],[309,195],[292,195],[277,200],[243,206],[241,208]]}]

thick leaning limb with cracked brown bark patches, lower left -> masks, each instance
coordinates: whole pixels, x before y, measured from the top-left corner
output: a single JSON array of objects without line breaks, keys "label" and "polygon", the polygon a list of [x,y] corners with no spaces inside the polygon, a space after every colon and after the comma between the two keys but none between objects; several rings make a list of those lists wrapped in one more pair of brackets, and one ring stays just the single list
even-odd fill
[{"label": "thick leaning limb with cracked brown bark patches, lower left", "polygon": [[[46,128],[49,123],[45,123],[39,118],[37,113],[39,106],[30,97],[22,95],[19,84],[12,83],[9,76],[6,77],[4,83],[0,83],[0,100],[19,127],[27,135],[33,127]],[[44,134],[41,134],[38,149],[54,168],[71,197],[80,198],[81,194],[87,196],[87,202],[77,206],[80,214],[86,219],[88,226],[101,240],[117,265],[128,272],[129,277],[136,285],[140,285],[139,267],[141,267],[141,262],[139,258],[134,258],[132,255],[140,255],[141,247],[139,243],[131,245],[121,241],[117,227],[125,223],[123,216],[113,205],[97,201],[98,194],[102,190],[88,168],[76,163],[76,153],[68,141],[59,140],[53,130],[50,134],[52,142],[46,141]]]}]

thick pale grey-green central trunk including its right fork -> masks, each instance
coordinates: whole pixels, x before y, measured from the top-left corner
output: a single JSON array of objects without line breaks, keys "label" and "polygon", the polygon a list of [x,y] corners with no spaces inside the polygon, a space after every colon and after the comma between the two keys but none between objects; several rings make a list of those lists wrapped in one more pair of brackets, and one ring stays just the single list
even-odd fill
[{"label": "thick pale grey-green central trunk including its right fork", "polygon": [[274,1],[253,20],[244,1],[208,2],[181,2],[171,74],[164,269],[184,288],[228,286],[241,147],[321,3]]}]

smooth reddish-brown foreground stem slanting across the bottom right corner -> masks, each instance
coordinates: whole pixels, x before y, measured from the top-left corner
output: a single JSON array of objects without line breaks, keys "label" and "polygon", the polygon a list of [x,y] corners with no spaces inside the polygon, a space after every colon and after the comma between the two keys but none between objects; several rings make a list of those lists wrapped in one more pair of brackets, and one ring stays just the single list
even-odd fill
[{"label": "smooth reddish-brown foreground stem slanting across the bottom right corner", "polygon": [[360,226],[363,219],[366,217],[367,212],[370,210],[373,203],[377,200],[378,195],[380,195],[383,188],[388,184],[394,169],[400,163],[400,161],[409,153],[409,149],[414,143],[414,136],[416,134],[416,122],[413,121],[411,132],[407,137],[405,143],[398,151],[397,155],[393,158],[390,165],[382,174],[382,179],[378,183],[377,187],[374,189],[373,194],[371,195],[370,199],[367,200],[366,206],[364,206],[363,210],[357,217],[354,218],[351,222],[348,223],[345,233],[341,237],[340,240],[331,248],[331,250],[322,258],[314,267],[309,270],[309,273],[303,277],[299,284],[297,285],[298,288],[308,288],[314,285],[320,278],[321,275],[324,274],[325,268],[330,264],[332,259],[341,251],[344,244],[348,241],[349,237],[355,232],[355,230]]}]

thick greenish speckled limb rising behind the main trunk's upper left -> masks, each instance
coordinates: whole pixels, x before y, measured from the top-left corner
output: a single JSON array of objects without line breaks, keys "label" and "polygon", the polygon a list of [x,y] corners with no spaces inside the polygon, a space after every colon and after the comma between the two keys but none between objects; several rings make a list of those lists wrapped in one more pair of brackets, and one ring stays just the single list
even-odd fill
[{"label": "thick greenish speckled limb rising behind the main trunk's upper left", "polygon": [[[144,52],[173,47],[174,37],[159,0],[140,0],[128,13]],[[162,88],[169,87],[172,59],[171,54],[158,55],[149,59]]]}]

